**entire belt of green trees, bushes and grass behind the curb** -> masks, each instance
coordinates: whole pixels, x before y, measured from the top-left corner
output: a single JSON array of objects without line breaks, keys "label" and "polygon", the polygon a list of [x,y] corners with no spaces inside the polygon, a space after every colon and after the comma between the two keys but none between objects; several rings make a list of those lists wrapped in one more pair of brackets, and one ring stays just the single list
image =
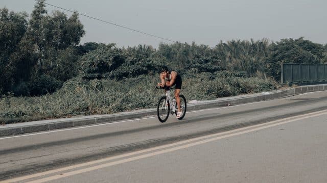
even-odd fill
[{"label": "entire belt of green trees, bushes and grass behind the curb", "polygon": [[282,63],[326,63],[327,45],[304,38],[231,40],[215,47],[187,43],[118,48],[88,42],[78,14],[0,9],[0,121],[111,114],[155,106],[163,65],[182,74],[189,100],[278,87]]}]

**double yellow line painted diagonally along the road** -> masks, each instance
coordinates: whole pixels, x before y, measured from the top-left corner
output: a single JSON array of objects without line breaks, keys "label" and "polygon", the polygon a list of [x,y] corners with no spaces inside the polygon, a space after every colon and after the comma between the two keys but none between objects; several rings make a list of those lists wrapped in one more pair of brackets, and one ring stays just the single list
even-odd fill
[{"label": "double yellow line painted diagonally along the road", "polygon": [[[288,118],[284,118],[284,119],[278,119],[278,120],[267,122],[267,123],[262,123],[262,124],[257,124],[257,125],[252,125],[252,126],[229,130],[227,132],[206,135],[206,136],[197,137],[197,138],[193,138],[193,139],[189,139],[189,140],[183,140],[183,141],[172,143],[172,144],[161,145],[161,146],[157,146],[157,147],[153,147],[153,148],[148,148],[148,149],[139,150],[139,151],[135,151],[135,152],[125,153],[122,155],[116,155],[116,156],[112,156],[110,158],[91,161],[91,162],[87,162],[87,163],[82,163],[82,164],[73,165],[73,166],[69,166],[69,167],[45,171],[45,172],[22,176],[22,177],[18,177],[18,178],[8,179],[8,180],[0,181],[0,183],[16,182],[16,181],[28,180],[28,179],[32,179],[32,178],[36,178],[36,177],[40,177],[40,178],[31,180],[31,181],[25,181],[25,182],[45,182],[45,181],[55,180],[55,179],[59,179],[59,178],[67,177],[67,176],[72,176],[72,175],[85,173],[85,172],[89,172],[89,171],[94,171],[94,170],[98,170],[101,168],[110,167],[110,166],[118,165],[118,164],[122,164],[122,163],[127,163],[127,162],[131,162],[131,161],[139,160],[139,159],[144,159],[144,158],[148,158],[148,157],[151,157],[154,155],[172,152],[172,151],[176,151],[179,149],[184,149],[184,148],[192,147],[192,146],[203,144],[203,143],[212,142],[212,141],[216,141],[219,139],[224,139],[224,138],[237,136],[237,135],[241,135],[241,134],[246,134],[246,133],[254,132],[256,130],[265,129],[265,128],[269,128],[272,126],[277,126],[277,125],[281,125],[281,124],[285,124],[285,123],[289,123],[289,122],[293,122],[293,121],[298,121],[298,120],[302,120],[302,119],[306,119],[306,118],[311,118],[311,117],[315,117],[315,116],[320,116],[320,115],[324,115],[324,114],[327,114],[327,110],[308,113],[308,114],[304,114],[304,115],[298,115],[298,116],[294,116],[294,117],[288,117]],[[116,161],[112,161],[112,160],[116,160]],[[101,163],[103,163],[103,164],[101,164]],[[73,169],[77,169],[77,170],[73,170]],[[68,170],[71,170],[71,171],[68,171]],[[44,177],[44,176],[48,176],[48,177]]]}]

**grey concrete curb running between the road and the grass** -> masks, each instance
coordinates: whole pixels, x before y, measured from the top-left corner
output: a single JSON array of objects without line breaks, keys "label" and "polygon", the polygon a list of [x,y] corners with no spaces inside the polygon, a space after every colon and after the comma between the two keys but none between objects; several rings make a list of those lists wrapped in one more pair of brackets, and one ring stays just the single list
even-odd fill
[{"label": "grey concrete curb running between the road and the grass", "polygon": [[[227,97],[228,99],[220,98],[217,100],[200,101],[199,103],[188,103],[187,110],[195,111],[201,109],[218,108],[225,106],[235,106],[238,104],[271,100],[292,95],[297,95],[307,92],[327,90],[327,85],[311,85],[300,86],[282,91],[269,92],[269,94],[253,94],[251,96],[236,96]],[[147,116],[155,116],[156,109],[143,110],[138,112],[123,112],[113,115],[94,115],[74,118],[64,118],[55,120],[43,120],[35,122],[25,122],[16,124],[7,124],[0,126],[0,136],[11,136],[25,133],[33,133],[47,131],[53,129],[76,127],[82,125],[94,125],[99,123],[112,123],[120,120],[142,118]]]}]

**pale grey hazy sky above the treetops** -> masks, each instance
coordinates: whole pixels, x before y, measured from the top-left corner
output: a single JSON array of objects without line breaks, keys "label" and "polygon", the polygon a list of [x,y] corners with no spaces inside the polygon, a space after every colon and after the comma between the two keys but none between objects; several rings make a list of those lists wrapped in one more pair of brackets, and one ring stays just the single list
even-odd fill
[{"label": "pale grey hazy sky above the treetops", "polygon": [[[35,3],[1,0],[0,8],[31,14]],[[303,36],[316,43],[327,43],[326,0],[47,0],[46,3],[179,42],[215,46],[220,40],[279,41]],[[55,10],[51,6],[46,9],[48,13]],[[80,20],[86,31],[81,43],[116,43],[119,47],[171,43],[84,16]]]}]

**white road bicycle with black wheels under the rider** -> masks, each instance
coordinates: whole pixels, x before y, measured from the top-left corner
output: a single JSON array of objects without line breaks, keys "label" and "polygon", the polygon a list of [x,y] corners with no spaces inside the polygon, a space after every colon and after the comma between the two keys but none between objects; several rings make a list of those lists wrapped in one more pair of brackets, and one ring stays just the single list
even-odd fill
[{"label": "white road bicycle with black wheels under the rider", "polygon": [[[177,116],[177,103],[175,97],[171,96],[171,90],[174,90],[173,88],[170,87],[164,87],[160,88],[157,87],[157,89],[165,89],[166,90],[166,96],[162,96],[159,101],[158,101],[158,106],[157,106],[157,116],[158,119],[161,123],[164,123],[167,121],[169,113],[172,115],[175,113]],[[182,111],[182,115],[180,118],[177,118],[179,120],[183,119],[186,113],[186,98],[184,95],[179,95],[180,97],[180,109]],[[171,108],[172,107],[172,108]]]}]

